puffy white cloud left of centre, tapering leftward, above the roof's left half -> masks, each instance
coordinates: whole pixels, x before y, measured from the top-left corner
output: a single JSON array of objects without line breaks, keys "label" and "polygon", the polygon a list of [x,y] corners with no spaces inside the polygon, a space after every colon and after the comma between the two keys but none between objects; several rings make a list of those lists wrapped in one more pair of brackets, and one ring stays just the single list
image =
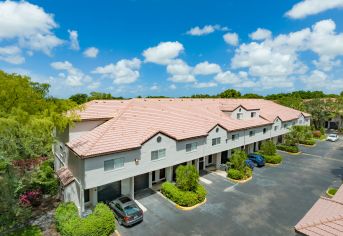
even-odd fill
[{"label": "puffy white cloud left of centre, tapering leftward, above the roof's left half", "polygon": [[137,58],[123,59],[115,64],[97,67],[92,73],[112,78],[115,84],[130,84],[139,78],[140,67],[141,61]]}]

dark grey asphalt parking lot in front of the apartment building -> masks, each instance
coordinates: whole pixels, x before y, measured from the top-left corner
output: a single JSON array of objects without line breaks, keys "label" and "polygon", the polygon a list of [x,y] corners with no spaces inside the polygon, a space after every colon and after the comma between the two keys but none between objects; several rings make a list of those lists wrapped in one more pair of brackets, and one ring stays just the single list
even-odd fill
[{"label": "dark grey asphalt parking lot in front of the apartment building", "polygon": [[280,153],[278,167],[255,168],[253,179],[234,184],[215,173],[201,182],[207,203],[182,211],[153,191],[138,201],[147,209],[144,221],[121,235],[295,235],[293,226],[343,174],[343,142],[301,147],[300,155]]}]

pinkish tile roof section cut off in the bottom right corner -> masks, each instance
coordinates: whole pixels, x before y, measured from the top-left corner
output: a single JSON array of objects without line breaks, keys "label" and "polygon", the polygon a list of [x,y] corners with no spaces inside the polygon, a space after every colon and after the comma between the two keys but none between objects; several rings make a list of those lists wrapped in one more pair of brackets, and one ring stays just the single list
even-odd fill
[{"label": "pinkish tile roof section cut off in the bottom right corner", "polygon": [[343,235],[343,187],[331,199],[321,197],[295,230],[309,236]]}]

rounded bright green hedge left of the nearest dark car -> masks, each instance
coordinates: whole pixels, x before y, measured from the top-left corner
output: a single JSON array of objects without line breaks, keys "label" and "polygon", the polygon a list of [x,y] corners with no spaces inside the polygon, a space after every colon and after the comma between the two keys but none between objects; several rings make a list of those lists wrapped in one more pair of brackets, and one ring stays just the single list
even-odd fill
[{"label": "rounded bright green hedge left of the nearest dark car", "polygon": [[62,236],[107,236],[115,230],[112,210],[98,203],[92,214],[80,218],[74,203],[61,203],[55,212],[57,231]]}]

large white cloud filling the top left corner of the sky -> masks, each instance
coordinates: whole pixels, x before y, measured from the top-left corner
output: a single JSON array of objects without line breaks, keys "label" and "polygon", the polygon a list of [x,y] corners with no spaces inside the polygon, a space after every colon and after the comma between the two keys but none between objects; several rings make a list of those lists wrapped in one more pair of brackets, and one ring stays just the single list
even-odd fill
[{"label": "large white cloud filling the top left corner of the sky", "polygon": [[48,55],[63,44],[52,32],[58,26],[53,15],[43,8],[25,1],[4,1],[0,12],[0,39],[18,39],[20,47]]}]

